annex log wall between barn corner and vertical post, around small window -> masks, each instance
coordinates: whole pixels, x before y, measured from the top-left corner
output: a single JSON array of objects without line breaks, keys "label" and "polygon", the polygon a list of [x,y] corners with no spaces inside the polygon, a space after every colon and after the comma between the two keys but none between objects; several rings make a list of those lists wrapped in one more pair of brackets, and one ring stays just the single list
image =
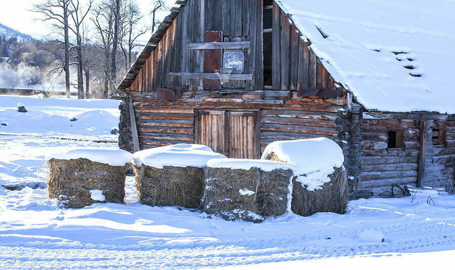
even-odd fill
[{"label": "annex log wall between barn corner and vertical post, around small window", "polygon": [[[403,129],[402,150],[387,149],[387,130]],[[406,119],[363,119],[358,192],[389,196],[393,185],[417,183],[419,122]],[[371,192],[371,194],[368,194]],[[368,196],[368,197],[369,197]]]}]

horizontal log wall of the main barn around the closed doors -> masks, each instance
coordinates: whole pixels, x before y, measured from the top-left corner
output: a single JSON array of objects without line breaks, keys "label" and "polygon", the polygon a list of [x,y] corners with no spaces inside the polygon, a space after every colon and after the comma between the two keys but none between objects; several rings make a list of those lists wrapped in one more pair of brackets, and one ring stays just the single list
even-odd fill
[{"label": "horizontal log wall of the main barn around the closed doors", "polygon": [[[133,107],[138,128],[140,148],[147,149],[178,143],[194,143],[195,109],[261,111],[261,151],[275,141],[298,140],[326,137],[336,142],[339,139],[339,111],[345,106],[345,99],[294,98],[287,101],[270,102],[241,101],[226,99],[226,102],[179,101],[163,102],[154,98],[134,96]],[[219,99],[217,99],[219,100]],[[119,146],[132,151],[129,124],[129,106],[120,105]],[[344,151],[346,162],[349,151]]]}]

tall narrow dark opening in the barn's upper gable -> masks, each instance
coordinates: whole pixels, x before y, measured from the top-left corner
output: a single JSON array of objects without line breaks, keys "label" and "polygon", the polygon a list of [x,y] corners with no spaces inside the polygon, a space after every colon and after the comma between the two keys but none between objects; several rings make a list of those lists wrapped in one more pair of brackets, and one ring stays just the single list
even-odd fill
[{"label": "tall narrow dark opening in the barn's upper gable", "polygon": [[273,28],[273,0],[264,0],[263,16],[263,59],[264,59],[264,86],[272,83],[272,31]]}]

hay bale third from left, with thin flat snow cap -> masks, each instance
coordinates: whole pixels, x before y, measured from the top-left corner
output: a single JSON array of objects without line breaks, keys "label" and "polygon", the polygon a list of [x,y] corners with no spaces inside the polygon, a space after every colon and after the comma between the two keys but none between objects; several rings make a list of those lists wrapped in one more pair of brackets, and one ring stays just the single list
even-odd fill
[{"label": "hay bale third from left, with thin flat snow cap", "polygon": [[269,160],[212,159],[204,174],[203,210],[226,220],[261,222],[291,211],[295,167]]}]

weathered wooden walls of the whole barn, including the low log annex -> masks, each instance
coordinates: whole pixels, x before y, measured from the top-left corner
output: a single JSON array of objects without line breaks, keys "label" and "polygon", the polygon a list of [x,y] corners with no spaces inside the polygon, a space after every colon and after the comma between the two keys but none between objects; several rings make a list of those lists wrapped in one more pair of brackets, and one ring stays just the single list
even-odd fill
[{"label": "weathered wooden walls of the whole barn, including the low log annex", "polygon": [[[137,132],[141,150],[199,143],[229,157],[258,158],[271,142],[327,137],[343,149],[352,198],[391,196],[406,184],[441,186],[450,173],[453,179],[452,116],[363,117],[367,112],[333,80],[274,1],[177,4],[117,89],[124,96],[122,149],[134,151]],[[223,52],[234,49],[244,52],[243,73],[220,87],[214,69]],[[165,101],[157,89],[171,85],[186,90]],[[423,163],[422,119],[446,126],[447,140],[445,148],[425,144]],[[402,130],[402,148],[389,149],[391,129]]]}]

